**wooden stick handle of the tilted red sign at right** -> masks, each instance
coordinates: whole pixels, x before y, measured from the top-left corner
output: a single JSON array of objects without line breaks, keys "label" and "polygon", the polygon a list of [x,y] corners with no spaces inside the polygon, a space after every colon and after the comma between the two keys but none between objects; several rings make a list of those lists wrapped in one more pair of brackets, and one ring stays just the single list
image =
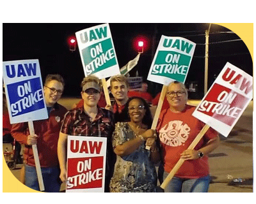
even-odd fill
[{"label": "wooden stick handle of the tilted red sign at right", "polygon": [[[204,134],[207,132],[207,130],[209,128],[210,128],[210,126],[205,124],[204,128],[200,131],[200,133],[198,133],[195,140],[193,140],[193,142],[189,145],[188,149],[194,149],[196,147],[197,143],[202,139],[202,137],[204,136]],[[173,176],[179,170],[180,166],[184,163],[184,161],[185,161],[184,159],[179,159],[179,161],[175,164],[172,171],[170,171],[169,175],[166,177],[164,182],[161,184],[160,187],[162,189],[165,189],[167,187],[167,185],[172,180]]]}]

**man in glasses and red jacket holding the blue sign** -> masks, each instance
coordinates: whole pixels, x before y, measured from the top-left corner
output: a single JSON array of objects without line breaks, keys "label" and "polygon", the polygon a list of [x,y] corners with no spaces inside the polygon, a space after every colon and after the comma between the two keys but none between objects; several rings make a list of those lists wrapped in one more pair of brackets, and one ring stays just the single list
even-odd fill
[{"label": "man in glasses and red jacket holding the blue sign", "polygon": [[47,106],[48,119],[33,121],[35,135],[29,135],[28,122],[13,124],[12,135],[25,145],[25,184],[39,191],[36,175],[35,159],[32,146],[36,144],[44,180],[45,192],[60,191],[60,170],[58,163],[57,145],[61,128],[61,120],[67,109],[57,102],[64,90],[64,80],[60,75],[47,75],[44,84],[44,98]]}]

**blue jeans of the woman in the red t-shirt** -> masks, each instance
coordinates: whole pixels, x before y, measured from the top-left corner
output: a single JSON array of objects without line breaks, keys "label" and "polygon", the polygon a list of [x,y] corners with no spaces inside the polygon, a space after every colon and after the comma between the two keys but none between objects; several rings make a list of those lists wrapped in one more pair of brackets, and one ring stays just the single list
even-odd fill
[{"label": "blue jeans of the woman in the red t-shirt", "polygon": [[[168,172],[164,171],[164,179],[168,176]],[[173,177],[164,192],[169,193],[207,193],[211,177],[207,175],[199,179],[180,179]]]}]

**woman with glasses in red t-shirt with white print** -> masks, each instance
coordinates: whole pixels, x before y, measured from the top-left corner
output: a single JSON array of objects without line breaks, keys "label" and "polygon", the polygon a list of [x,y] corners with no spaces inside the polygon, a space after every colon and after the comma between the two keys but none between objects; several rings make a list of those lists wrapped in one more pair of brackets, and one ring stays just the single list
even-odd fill
[{"label": "woman with glasses in red t-shirt with white print", "polygon": [[185,161],[165,192],[207,192],[210,183],[207,154],[218,147],[218,133],[209,128],[195,149],[188,149],[204,123],[192,116],[196,107],[186,104],[188,92],[181,82],[175,81],[168,85],[166,99],[170,108],[161,112],[157,124],[163,150],[163,179],[166,179],[180,158]]}]

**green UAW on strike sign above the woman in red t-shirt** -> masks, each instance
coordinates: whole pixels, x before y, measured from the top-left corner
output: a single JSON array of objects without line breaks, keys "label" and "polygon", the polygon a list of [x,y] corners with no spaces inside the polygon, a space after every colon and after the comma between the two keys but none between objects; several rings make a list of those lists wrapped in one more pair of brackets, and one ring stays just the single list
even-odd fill
[{"label": "green UAW on strike sign above the woman in red t-shirt", "polygon": [[147,79],[164,85],[173,80],[184,83],[195,47],[185,38],[161,36]]}]

